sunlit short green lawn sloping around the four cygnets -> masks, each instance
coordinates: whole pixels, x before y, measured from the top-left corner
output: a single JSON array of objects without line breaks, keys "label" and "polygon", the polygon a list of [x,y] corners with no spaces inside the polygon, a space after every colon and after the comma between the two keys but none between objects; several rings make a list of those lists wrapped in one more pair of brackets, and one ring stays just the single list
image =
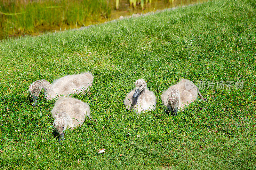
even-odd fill
[{"label": "sunlit short green lawn sloping around the four cygnets", "polygon": [[[255,169],[255,6],[253,0],[210,1],[0,42],[0,167]],[[98,121],[67,130],[60,145],[52,135],[54,101],[42,92],[33,107],[28,85],[83,71],[94,75],[91,93],[74,97]],[[155,92],[155,111],[125,109],[123,99],[138,78]],[[161,94],[181,78],[244,80],[244,86],[201,90],[207,102],[166,115]]]}]

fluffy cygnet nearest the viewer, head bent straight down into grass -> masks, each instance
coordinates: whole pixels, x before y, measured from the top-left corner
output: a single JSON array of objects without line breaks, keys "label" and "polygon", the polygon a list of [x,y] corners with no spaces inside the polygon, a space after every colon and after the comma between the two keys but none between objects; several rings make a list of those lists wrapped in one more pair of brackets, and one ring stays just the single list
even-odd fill
[{"label": "fluffy cygnet nearest the viewer, head bent straight down into grass", "polygon": [[60,134],[59,140],[64,139],[64,131],[77,128],[83,124],[86,118],[92,119],[90,106],[81,100],[74,98],[60,98],[52,108],[52,117],[55,119],[53,126]]}]

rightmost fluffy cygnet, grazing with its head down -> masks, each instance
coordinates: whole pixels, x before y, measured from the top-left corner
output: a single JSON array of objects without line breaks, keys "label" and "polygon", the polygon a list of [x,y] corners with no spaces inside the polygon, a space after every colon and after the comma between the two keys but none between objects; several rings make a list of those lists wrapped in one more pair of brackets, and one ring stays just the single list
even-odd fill
[{"label": "rightmost fluffy cygnet, grazing with its head down", "polygon": [[201,100],[207,100],[201,95],[193,82],[188,79],[182,79],[179,83],[164,91],[161,98],[167,111],[173,111],[177,115],[178,110],[182,110],[184,106],[188,106],[197,99],[197,93]]}]

